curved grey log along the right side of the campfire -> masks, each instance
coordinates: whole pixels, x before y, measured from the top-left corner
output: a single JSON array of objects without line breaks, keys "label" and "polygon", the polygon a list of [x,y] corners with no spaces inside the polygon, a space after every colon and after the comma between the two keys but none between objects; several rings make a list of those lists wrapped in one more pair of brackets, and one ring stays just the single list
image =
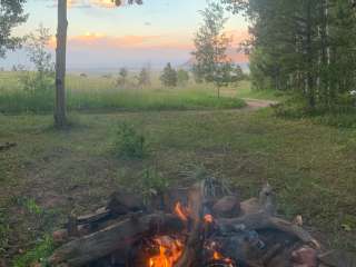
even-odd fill
[{"label": "curved grey log along the right side of the campfire", "polygon": [[304,244],[308,244],[316,249],[320,248],[318,241],[314,239],[312,235],[308,231],[304,230],[301,227],[294,225],[293,222],[289,222],[287,220],[271,217],[265,211],[248,214],[234,219],[221,218],[217,219],[217,222],[224,227],[231,228],[231,230],[239,226],[244,226],[248,230],[275,229],[296,237]]}]

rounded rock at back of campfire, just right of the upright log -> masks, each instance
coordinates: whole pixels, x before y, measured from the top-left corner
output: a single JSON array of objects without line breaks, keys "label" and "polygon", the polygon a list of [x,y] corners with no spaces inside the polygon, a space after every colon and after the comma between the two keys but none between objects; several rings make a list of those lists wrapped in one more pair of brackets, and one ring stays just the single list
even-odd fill
[{"label": "rounded rock at back of campfire, just right of the upright log", "polygon": [[240,201],[236,196],[227,196],[212,206],[212,212],[220,218],[234,218],[240,214]]}]

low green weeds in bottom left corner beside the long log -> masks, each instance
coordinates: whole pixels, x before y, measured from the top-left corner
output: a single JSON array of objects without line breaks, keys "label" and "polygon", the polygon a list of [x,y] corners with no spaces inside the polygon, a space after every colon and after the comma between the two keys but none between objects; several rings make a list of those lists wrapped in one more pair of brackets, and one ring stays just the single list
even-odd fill
[{"label": "low green weeds in bottom left corner beside the long log", "polygon": [[51,256],[55,250],[55,244],[50,236],[44,236],[42,239],[37,241],[37,245],[26,254],[14,258],[13,267],[28,267],[32,264],[40,263],[41,266],[49,266],[47,258]]}]

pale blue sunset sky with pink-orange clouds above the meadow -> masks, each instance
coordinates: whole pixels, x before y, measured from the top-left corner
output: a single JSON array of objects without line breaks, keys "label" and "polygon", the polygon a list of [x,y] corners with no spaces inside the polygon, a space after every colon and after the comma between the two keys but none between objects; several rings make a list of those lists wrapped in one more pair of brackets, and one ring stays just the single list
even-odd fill
[{"label": "pale blue sunset sky with pink-orange clouds above the meadow", "polygon": [[[40,23],[55,36],[56,0],[28,0],[27,23],[18,27],[17,36],[32,32]],[[161,68],[171,62],[187,62],[194,50],[194,33],[201,23],[199,10],[206,0],[144,0],[142,6],[113,7],[110,0],[69,0],[68,69]],[[244,18],[227,14],[226,32],[234,36],[234,59],[246,62],[235,47],[247,38]],[[55,50],[55,37],[49,48]],[[26,52],[18,50],[0,59],[0,67],[28,65]]]}]

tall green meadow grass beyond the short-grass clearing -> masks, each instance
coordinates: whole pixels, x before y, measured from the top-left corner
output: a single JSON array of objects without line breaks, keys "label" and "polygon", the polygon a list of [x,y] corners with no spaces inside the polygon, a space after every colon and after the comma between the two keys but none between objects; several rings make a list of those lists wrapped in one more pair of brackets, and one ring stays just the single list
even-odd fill
[{"label": "tall green meadow grass beyond the short-grass clearing", "polygon": [[[2,79],[3,78],[3,79]],[[17,75],[0,75],[0,112],[50,112],[55,91],[27,92],[21,89]],[[228,90],[227,90],[228,91]],[[113,78],[67,78],[67,107],[69,110],[188,110],[233,109],[244,107],[235,95],[217,98],[209,85],[188,83],[185,87],[164,88],[152,81],[149,88],[117,88]]]}]

